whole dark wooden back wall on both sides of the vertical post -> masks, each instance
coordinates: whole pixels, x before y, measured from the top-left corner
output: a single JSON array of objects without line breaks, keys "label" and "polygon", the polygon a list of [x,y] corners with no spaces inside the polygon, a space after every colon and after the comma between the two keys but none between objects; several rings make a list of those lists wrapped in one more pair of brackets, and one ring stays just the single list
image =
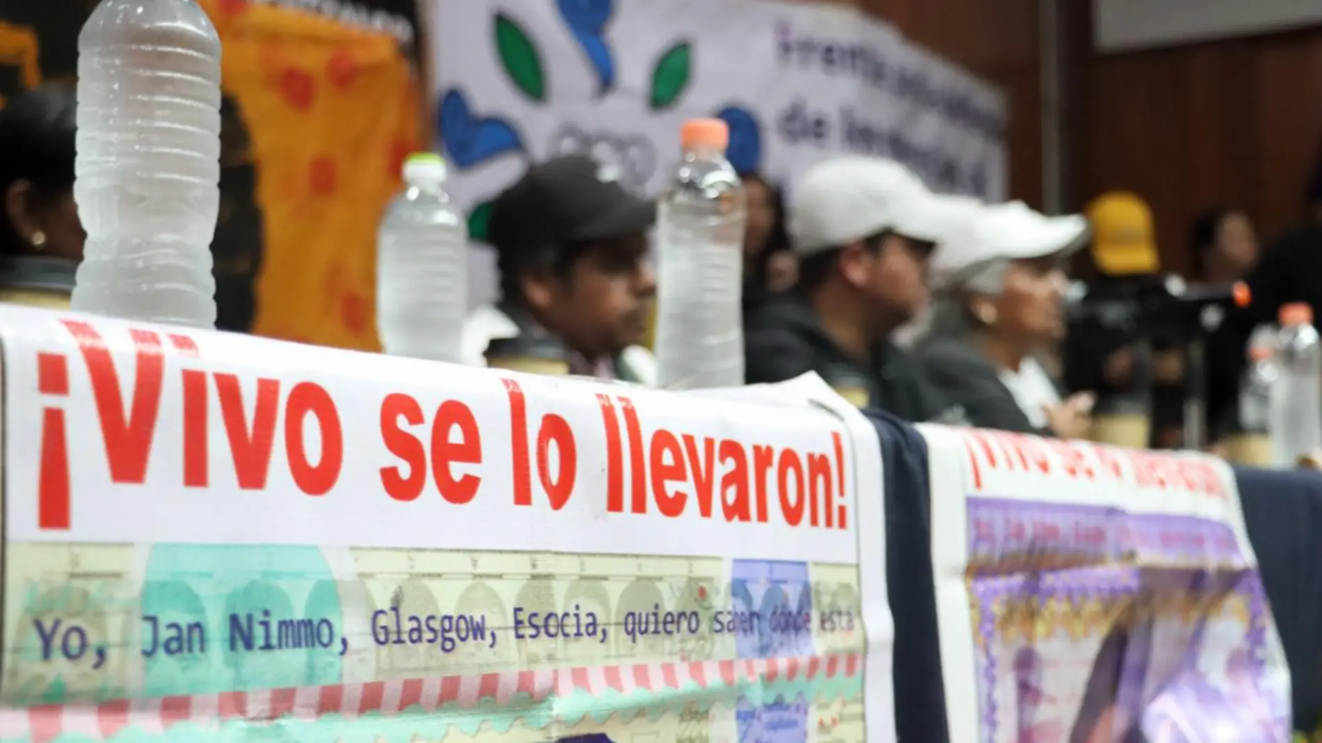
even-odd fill
[{"label": "whole dark wooden back wall on both sides of the vertical post", "polygon": [[[1038,0],[857,0],[911,40],[997,85],[1009,102],[1010,193],[1040,206]],[[1100,56],[1087,0],[1062,0],[1064,206],[1125,188],[1147,198],[1169,268],[1212,206],[1265,237],[1303,218],[1322,156],[1322,29]]]}]

